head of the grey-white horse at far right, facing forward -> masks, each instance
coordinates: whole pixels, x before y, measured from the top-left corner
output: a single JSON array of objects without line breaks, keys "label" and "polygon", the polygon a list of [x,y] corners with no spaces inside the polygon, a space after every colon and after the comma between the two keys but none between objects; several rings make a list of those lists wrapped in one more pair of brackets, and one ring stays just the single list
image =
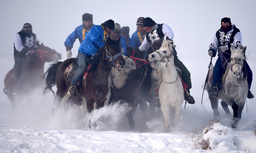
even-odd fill
[{"label": "head of the grey-white horse at far right, facing forward", "polygon": [[239,46],[238,49],[234,47],[230,48],[231,56],[230,56],[230,68],[232,71],[232,76],[234,78],[240,78],[243,69],[245,69],[245,60],[246,60],[246,46],[243,47],[242,45]]}]

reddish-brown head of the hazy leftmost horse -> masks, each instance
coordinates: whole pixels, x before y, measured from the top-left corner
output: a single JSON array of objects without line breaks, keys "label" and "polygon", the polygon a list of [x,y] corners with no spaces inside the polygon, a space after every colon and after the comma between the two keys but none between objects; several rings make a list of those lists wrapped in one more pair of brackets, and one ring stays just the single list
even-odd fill
[{"label": "reddish-brown head of the hazy leftmost horse", "polygon": [[37,55],[41,58],[43,62],[57,62],[61,60],[61,54],[56,52],[54,49],[50,49],[43,43],[38,46]]}]

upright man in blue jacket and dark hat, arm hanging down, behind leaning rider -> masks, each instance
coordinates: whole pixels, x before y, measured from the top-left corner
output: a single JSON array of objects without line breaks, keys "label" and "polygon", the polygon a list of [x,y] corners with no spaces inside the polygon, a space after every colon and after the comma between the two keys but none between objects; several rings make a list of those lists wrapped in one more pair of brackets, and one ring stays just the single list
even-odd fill
[{"label": "upright man in blue jacket and dark hat, arm hanging down, behind leaning rider", "polygon": [[89,13],[85,13],[82,16],[83,25],[80,25],[76,27],[75,31],[73,31],[69,36],[67,37],[65,41],[66,51],[67,51],[67,57],[72,57],[71,49],[73,48],[73,45],[78,38],[80,44],[85,39],[86,34],[89,32],[89,30],[95,26],[92,21],[92,15]]}]

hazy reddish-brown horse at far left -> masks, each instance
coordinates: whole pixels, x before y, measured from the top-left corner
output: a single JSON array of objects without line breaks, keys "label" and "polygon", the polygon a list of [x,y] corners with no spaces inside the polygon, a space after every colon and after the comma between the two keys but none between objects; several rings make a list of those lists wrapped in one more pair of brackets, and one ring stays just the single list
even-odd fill
[{"label": "hazy reddish-brown horse at far left", "polygon": [[[33,89],[39,87],[43,81],[41,79],[44,74],[45,62],[53,62],[61,60],[61,54],[47,46],[41,44],[37,51],[29,54],[24,61],[22,67],[22,75],[20,76],[20,95],[25,96]],[[14,86],[13,70],[9,70],[4,79],[4,93],[8,96],[11,103],[15,103],[16,89]]]}]

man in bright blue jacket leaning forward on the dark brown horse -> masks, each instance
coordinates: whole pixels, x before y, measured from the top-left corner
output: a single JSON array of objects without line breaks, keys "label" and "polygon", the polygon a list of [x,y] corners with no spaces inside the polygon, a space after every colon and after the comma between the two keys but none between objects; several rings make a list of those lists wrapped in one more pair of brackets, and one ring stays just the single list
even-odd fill
[{"label": "man in bright blue jacket leaning forward on the dark brown horse", "polygon": [[69,92],[76,95],[76,84],[87,68],[87,58],[95,54],[98,49],[102,48],[109,37],[109,34],[114,30],[114,21],[107,20],[101,25],[96,25],[87,33],[85,40],[81,43],[78,49],[78,69],[72,79]]}]

